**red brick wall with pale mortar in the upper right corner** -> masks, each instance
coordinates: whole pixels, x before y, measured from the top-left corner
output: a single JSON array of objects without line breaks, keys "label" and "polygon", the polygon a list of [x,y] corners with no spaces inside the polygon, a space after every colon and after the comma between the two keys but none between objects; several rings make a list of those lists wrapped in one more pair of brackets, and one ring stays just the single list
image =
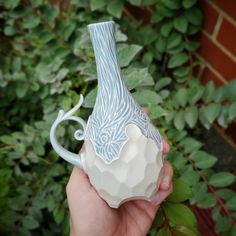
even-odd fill
[{"label": "red brick wall with pale mortar in the upper right corner", "polygon": [[199,77],[217,86],[236,79],[236,1],[200,0],[204,27],[197,57],[204,61]]}]

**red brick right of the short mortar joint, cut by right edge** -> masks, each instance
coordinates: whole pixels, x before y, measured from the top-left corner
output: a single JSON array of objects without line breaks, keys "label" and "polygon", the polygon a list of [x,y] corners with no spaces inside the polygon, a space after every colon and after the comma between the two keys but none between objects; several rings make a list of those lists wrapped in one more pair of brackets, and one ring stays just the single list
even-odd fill
[{"label": "red brick right of the short mortar joint, cut by right edge", "polygon": [[224,19],[217,37],[218,41],[236,56],[236,26]]}]

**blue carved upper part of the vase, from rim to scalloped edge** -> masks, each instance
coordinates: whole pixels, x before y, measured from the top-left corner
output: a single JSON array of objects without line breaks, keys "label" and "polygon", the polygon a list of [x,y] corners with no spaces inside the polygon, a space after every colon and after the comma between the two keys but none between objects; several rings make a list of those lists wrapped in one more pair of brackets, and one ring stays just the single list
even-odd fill
[{"label": "blue carved upper part of the vase, from rim to scalloped edge", "polygon": [[162,149],[159,132],[133,99],[121,76],[115,44],[114,22],[88,26],[95,53],[98,95],[87,122],[85,139],[92,141],[96,154],[106,163],[119,158],[128,136],[126,127],[137,125],[142,134]]}]

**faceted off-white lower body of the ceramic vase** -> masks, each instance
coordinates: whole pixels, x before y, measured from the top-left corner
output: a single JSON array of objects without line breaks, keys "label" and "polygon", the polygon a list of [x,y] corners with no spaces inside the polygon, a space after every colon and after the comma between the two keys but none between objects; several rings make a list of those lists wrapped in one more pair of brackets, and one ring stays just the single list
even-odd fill
[{"label": "faceted off-white lower body of the ceramic vase", "polygon": [[91,141],[85,140],[80,151],[84,171],[98,194],[113,208],[133,199],[151,200],[162,175],[162,150],[146,138],[140,129],[129,124],[128,141],[118,160],[106,164],[96,156]]}]

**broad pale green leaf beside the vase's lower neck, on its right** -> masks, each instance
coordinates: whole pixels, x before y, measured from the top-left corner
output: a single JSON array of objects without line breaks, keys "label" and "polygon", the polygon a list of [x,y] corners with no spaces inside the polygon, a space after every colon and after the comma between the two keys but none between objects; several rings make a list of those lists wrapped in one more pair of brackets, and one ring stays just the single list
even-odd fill
[{"label": "broad pale green leaf beside the vase's lower neck, on its right", "polygon": [[128,68],[123,71],[126,87],[132,90],[140,85],[153,85],[154,81],[147,68]]}]

